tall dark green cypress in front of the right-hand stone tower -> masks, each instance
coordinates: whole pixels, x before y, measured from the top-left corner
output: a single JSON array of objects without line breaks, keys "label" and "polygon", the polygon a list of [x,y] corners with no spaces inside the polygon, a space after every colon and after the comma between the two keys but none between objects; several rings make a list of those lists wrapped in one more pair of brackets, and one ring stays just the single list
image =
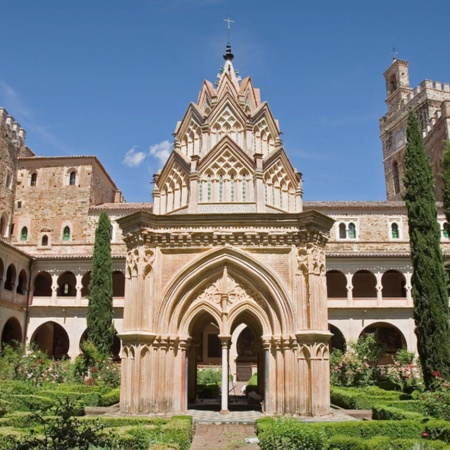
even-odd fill
[{"label": "tall dark green cypress in front of the right-hand stone tower", "polygon": [[429,388],[437,374],[450,378],[447,273],[440,247],[433,173],[412,111],[406,137],[404,183],[414,270],[415,333],[425,386]]}]

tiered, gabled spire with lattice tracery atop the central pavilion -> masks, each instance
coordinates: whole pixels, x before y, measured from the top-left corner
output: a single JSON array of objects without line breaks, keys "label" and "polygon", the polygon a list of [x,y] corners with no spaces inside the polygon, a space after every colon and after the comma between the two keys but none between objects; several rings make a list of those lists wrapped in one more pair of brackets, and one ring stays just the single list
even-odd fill
[{"label": "tiered, gabled spire with lattice tracery atop the central pavilion", "polygon": [[301,174],[278,121],[233,58],[228,44],[216,86],[205,80],[177,123],[172,154],[154,177],[155,214],[302,211]]}]

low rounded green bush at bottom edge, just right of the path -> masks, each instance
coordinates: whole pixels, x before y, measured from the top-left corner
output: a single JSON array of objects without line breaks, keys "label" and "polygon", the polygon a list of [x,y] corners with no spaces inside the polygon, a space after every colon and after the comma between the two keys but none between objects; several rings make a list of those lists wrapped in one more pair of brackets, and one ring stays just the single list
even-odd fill
[{"label": "low rounded green bush at bottom edge, just right of the path", "polygon": [[323,450],[326,436],[320,429],[295,419],[281,418],[258,433],[262,450]]}]

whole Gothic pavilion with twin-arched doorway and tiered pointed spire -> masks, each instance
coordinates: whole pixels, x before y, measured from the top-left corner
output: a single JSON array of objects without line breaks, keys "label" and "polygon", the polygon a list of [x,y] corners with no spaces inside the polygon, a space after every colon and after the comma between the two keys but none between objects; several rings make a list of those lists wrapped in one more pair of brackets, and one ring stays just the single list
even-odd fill
[{"label": "whole Gothic pavilion with twin-arched doorway and tiered pointed spire", "polygon": [[[231,336],[257,337],[269,414],[329,413],[324,246],[333,220],[302,212],[301,177],[277,121],[227,46],[155,176],[152,212],[119,219],[127,244],[121,411],[186,411],[202,331],[219,330],[222,386]],[[228,412],[222,390],[221,412]]]}]

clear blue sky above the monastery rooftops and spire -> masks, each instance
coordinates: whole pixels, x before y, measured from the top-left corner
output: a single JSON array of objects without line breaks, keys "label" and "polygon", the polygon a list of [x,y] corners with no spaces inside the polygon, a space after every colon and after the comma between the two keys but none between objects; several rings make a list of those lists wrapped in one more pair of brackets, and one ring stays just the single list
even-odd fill
[{"label": "clear blue sky above the monastery rooftops and spire", "polygon": [[127,201],[151,201],[177,121],[223,63],[230,16],[234,66],[279,120],[304,199],[383,200],[383,72],[395,43],[412,86],[450,82],[449,12],[447,0],[1,1],[0,106],[36,154],[97,155]]}]

